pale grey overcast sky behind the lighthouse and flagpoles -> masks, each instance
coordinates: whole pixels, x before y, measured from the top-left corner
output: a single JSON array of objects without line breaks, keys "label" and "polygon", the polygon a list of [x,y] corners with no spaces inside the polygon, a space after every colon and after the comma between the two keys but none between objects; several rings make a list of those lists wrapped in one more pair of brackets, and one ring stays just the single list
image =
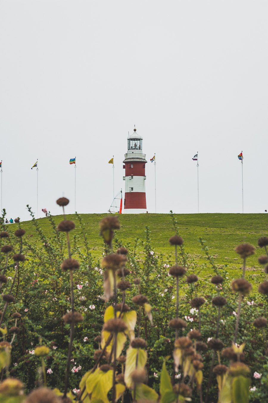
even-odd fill
[{"label": "pale grey overcast sky behind the lighthouse and flagpoles", "polygon": [[143,137],[147,210],[268,209],[268,2],[0,2],[0,160],[8,218],[107,212]]}]

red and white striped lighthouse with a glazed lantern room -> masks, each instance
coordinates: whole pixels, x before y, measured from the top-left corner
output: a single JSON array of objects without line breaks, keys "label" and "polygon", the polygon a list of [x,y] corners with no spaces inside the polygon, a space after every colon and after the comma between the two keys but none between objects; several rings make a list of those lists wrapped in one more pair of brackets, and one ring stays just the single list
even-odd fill
[{"label": "red and white striped lighthouse with a glazed lantern room", "polygon": [[142,153],[143,138],[137,133],[127,137],[127,154],[123,161],[125,169],[125,200],[124,213],[146,213],[145,195],[145,154]]}]

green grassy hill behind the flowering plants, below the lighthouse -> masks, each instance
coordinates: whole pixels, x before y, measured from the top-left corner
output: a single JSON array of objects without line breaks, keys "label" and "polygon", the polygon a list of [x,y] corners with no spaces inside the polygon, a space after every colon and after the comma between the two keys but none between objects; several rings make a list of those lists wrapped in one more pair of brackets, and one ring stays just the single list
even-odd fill
[{"label": "green grassy hill behind the flowering plants, below the lighthouse", "polygon": [[[92,254],[100,257],[103,250],[102,239],[99,237],[98,224],[106,214],[82,214],[82,220],[86,225],[86,232],[89,239]],[[55,216],[58,223],[63,216]],[[75,215],[68,215],[68,219],[74,220],[76,229],[72,231],[80,238],[80,224]],[[164,253],[168,256],[173,249],[168,239],[173,235],[172,221],[169,214],[122,214],[118,216],[121,222],[121,230],[117,231],[117,237],[123,240],[124,244],[133,243],[135,238],[141,240],[145,237],[145,226],[151,231],[151,243],[156,253]],[[202,237],[210,248],[210,254],[214,256],[216,264],[228,264],[229,272],[237,277],[237,269],[241,267],[241,259],[237,256],[234,248],[239,243],[248,242],[257,246],[258,238],[267,235],[267,214],[176,214],[180,228],[180,235],[185,242],[186,251],[193,255],[200,263],[204,262],[204,253],[200,248],[198,238]],[[49,236],[51,227],[48,218],[38,220],[44,233]],[[13,224],[14,225],[14,224]],[[22,223],[27,230],[31,242],[36,242],[37,235],[31,221]],[[247,260],[250,267],[250,274],[254,276],[263,273],[257,261],[257,257],[264,253],[264,250],[257,247],[256,254]]]}]

